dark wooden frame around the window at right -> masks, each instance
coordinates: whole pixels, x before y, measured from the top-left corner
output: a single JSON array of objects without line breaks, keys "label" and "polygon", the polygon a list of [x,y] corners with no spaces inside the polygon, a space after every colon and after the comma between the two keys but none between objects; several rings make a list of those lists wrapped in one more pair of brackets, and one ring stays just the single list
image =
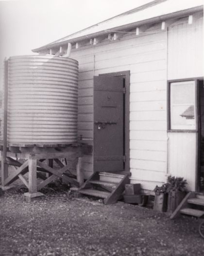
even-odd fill
[{"label": "dark wooden frame around the window at right", "polygon": [[[167,81],[167,131],[168,132],[177,132],[177,133],[195,133],[198,132],[198,82],[202,80],[203,77],[198,78],[188,78],[188,79],[173,79]],[[195,129],[171,129],[171,119],[170,119],[170,85],[175,82],[195,82]]]}]

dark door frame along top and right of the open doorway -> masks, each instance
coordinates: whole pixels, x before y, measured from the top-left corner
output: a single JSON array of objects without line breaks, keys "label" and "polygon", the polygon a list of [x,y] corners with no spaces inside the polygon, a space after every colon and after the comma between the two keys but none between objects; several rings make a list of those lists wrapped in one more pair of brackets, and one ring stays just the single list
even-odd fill
[{"label": "dark door frame along top and right of the open doorway", "polygon": [[99,74],[99,76],[106,77],[121,77],[125,79],[125,118],[124,118],[124,131],[125,131],[125,171],[130,172],[130,70],[120,71],[114,73]]}]

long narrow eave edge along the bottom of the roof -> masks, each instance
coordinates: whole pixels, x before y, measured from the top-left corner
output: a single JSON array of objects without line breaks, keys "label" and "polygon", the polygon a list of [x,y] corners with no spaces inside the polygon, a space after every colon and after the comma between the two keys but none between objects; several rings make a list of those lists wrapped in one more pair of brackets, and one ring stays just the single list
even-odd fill
[{"label": "long narrow eave edge along the bottom of the roof", "polygon": [[[131,29],[131,28],[134,28],[136,26],[138,27],[138,26],[141,26],[141,25],[144,25],[144,24],[156,23],[156,22],[161,22],[161,21],[168,20],[168,19],[187,16],[187,15],[190,15],[190,14],[193,14],[193,13],[196,13],[196,12],[199,12],[199,11],[203,11],[203,10],[204,10],[204,6],[200,5],[200,6],[192,7],[190,9],[186,9],[186,10],[182,10],[182,11],[178,11],[178,12],[169,13],[169,14],[165,14],[165,15],[162,15],[162,16],[154,17],[154,18],[151,18],[151,19],[140,20],[140,21],[133,22],[133,23],[130,23],[130,24],[125,24],[125,25],[122,25],[122,26],[109,28],[109,30],[120,31],[120,30],[124,30],[124,29]],[[57,46],[65,45],[68,42],[76,43],[76,42],[82,41],[84,39],[92,39],[92,38],[95,38],[95,37],[102,36],[104,34],[108,34],[107,30],[102,30],[100,32],[96,32],[96,33],[93,33],[93,34],[88,34],[88,35],[78,37],[78,38],[74,38],[74,39],[68,39],[68,40],[65,40],[65,41],[62,41],[62,42],[49,43],[49,44],[46,44],[42,47],[33,49],[32,52],[38,53],[40,51],[50,49],[51,47],[57,47]]]}]

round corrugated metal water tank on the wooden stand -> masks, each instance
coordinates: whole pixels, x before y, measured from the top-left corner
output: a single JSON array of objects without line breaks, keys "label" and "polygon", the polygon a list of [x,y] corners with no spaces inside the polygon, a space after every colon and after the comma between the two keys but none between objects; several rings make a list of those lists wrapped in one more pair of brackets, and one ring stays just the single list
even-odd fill
[{"label": "round corrugated metal water tank on the wooden stand", "polygon": [[53,56],[8,59],[8,144],[77,140],[78,61]]}]

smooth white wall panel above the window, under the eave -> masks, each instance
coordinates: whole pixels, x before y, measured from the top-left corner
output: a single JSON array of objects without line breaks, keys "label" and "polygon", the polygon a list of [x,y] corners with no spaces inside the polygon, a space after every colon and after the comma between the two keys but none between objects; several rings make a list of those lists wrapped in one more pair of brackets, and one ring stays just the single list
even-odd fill
[{"label": "smooth white wall panel above the window, under the eave", "polygon": [[204,19],[200,15],[193,15],[192,24],[185,18],[169,27],[169,80],[204,76]]}]

